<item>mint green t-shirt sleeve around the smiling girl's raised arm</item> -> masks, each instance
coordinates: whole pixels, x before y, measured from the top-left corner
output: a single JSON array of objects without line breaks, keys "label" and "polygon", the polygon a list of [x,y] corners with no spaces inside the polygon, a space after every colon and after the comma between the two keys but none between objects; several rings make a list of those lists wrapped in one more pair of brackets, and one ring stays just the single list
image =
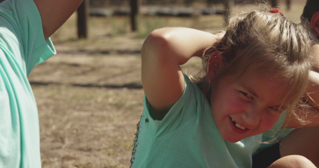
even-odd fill
[{"label": "mint green t-shirt sleeve around the smiling girl's raised arm", "polygon": [[151,117],[150,103],[144,95],[144,111],[141,117],[141,122],[149,122],[145,125],[152,136],[168,134],[181,127],[196,114],[196,85],[192,83],[185,74],[184,79],[185,88],[181,97],[174,103],[165,117],[160,121],[154,120]]}]

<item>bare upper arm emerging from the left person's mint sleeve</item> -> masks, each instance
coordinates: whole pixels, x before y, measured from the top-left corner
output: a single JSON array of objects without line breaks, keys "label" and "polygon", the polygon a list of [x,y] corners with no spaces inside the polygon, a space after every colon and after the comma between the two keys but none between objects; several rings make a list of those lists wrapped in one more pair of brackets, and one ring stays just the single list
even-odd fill
[{"label": "bare upper arm emerging from the left person's mint sleeve", "polygon": [[34,0],[42,19],[44,38],[48,39],[79,7],[83,0]]}]

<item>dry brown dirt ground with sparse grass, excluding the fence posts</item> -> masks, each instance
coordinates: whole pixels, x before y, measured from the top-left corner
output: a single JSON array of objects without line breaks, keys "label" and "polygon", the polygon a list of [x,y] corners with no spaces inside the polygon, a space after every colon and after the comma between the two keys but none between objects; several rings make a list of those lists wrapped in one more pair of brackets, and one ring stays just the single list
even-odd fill
[{"label": "dry brown dirt ground with sparse grass, excluding the fence posts", "polygon": [[[292,4],[284,13],[299,21],[305,2]],[[57,54],[29,76],[39,110],[42,166],[129,167],[136,124],[143,111],[142,35],[156,26],[215,33],[223,28],[223,18],[145,17],[139,23],[145,25],[145,32],[130,33],[126,17],[90,17],[90,38],[86,40],[75,39],[75,18],[52,36]],[[148,25],[153,27],[147,29]],[[183,69],[192,73],[199,67],[200,60],[194,59]]]}]

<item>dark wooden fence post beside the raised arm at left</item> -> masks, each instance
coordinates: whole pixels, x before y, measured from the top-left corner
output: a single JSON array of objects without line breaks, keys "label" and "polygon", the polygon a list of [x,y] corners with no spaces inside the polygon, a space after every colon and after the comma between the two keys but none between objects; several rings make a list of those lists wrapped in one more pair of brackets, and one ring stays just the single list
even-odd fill
[{"label": "dark wooden fence post beside the raised arm at left", "polygon": [[89,15],[89,0],[84,0],[78,7],[78,38],[87,38],[87,21]]}]

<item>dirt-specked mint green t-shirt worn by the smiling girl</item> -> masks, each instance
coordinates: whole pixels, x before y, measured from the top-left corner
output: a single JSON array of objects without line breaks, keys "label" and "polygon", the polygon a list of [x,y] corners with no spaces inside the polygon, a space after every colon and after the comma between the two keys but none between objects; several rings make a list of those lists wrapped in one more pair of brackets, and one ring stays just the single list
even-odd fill
[{"label": "dirt-specked mint green t-shirt worn by the smiling girl", "polygon": [[236,143],[225,141],[214,124],[211,107],[202,91],[184,76],[182,96],[161,121],[152,119],[145,97],[131,167],[251,167],[252,154],[259,147],[262,135]]}]

